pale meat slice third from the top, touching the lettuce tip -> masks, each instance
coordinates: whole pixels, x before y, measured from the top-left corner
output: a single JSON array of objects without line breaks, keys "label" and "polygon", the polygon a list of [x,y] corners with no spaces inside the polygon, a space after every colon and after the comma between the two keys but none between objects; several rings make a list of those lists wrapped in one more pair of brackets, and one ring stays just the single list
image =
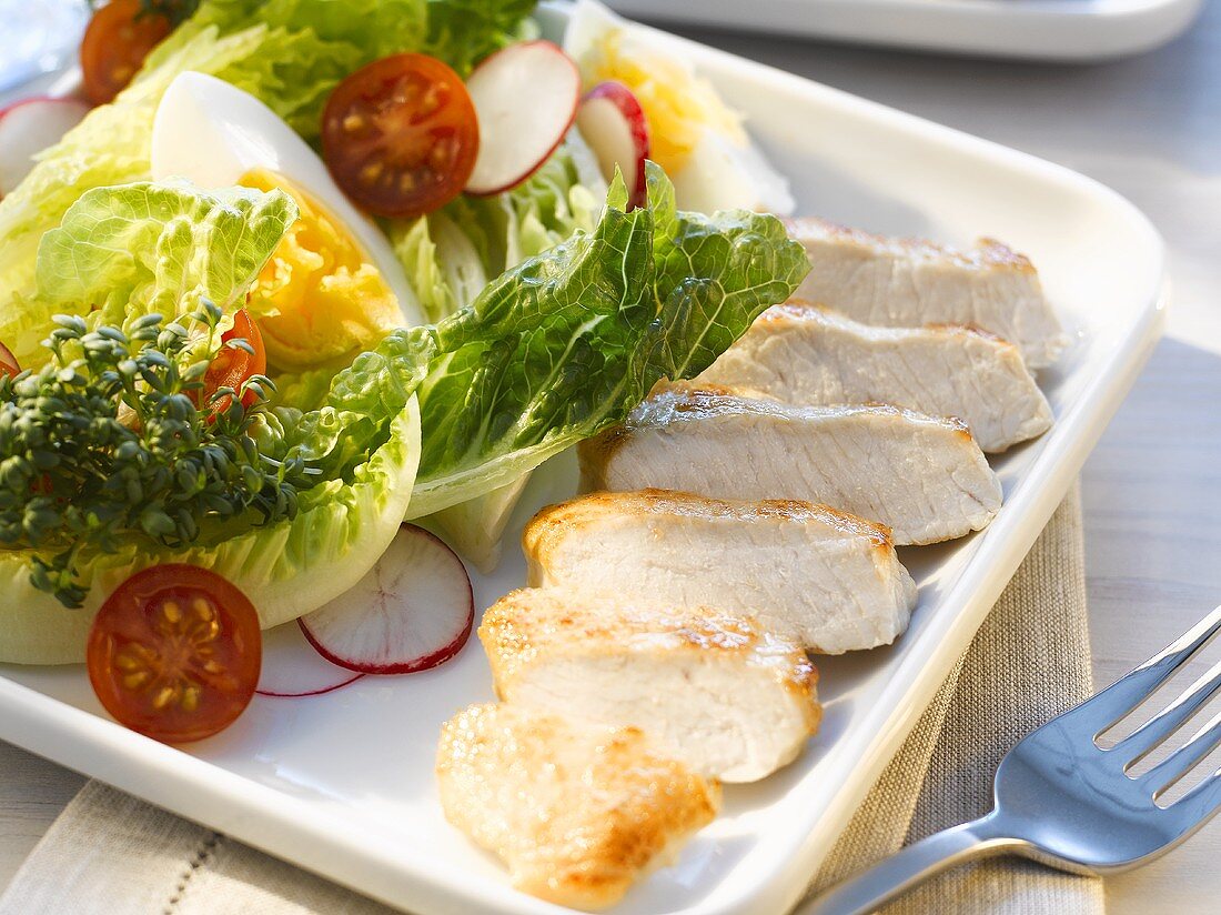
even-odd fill
[{"label": "pale meat slice third from the top, touching the lettuce tip", "polygon": [[884,404],[796,407],[673,385],[578,453],[586,490],[797,498],[885,524],[900,545],[979,530],[1001,502],[961,420]]}]

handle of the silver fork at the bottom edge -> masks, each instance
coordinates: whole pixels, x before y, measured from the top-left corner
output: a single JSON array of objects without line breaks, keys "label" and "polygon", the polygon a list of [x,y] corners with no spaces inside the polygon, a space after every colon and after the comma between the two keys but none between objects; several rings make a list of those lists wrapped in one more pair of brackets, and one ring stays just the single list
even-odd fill
[{"label": "handle of the silver fork at the bottom edge", "polygon": [[996,829],[996,814],[937,832],[797,905],[792,915],[863,915],[934,873],[1027,845]]}]

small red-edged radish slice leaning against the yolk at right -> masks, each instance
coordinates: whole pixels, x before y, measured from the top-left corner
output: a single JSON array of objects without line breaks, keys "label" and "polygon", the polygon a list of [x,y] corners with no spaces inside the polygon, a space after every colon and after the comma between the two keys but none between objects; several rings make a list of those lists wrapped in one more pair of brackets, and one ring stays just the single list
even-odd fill
[{"label": "small red-edged radish slice leaning against the yolk at right", "polygon": [[631,193],[630,205],[642,206],[648,118],[631,89],[614,81],[595,86],[576,110],[576,128],[598,158],[602,176],[610,181],[618,166]]}]

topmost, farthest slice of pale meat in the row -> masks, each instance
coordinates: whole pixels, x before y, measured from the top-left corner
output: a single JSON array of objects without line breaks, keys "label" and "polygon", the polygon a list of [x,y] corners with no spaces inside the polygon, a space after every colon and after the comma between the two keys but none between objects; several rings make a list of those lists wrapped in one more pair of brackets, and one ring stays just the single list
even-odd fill
[{"label": "topmost, farthest slice of pale meat in the row", "polygon": [[884,238],[819,219],[789,221],[789,235],[810,255],[797,296],[866,324],[919,327],[969,324],[999,334],[1043,368],[1065,346],[1039,275],[1000,242],[972,250],[933,242]]}]

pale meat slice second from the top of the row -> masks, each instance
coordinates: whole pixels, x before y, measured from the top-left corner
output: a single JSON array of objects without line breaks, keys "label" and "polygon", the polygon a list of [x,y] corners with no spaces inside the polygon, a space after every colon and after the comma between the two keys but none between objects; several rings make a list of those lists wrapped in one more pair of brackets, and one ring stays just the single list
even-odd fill
[{"label": "pale meat slice second from the top of the row", "polygon": [[817,305],[769,308],[698,382],[763,391],[786,403],[893,403],[957,417],[1000,452],[1051,426],[1022,354],[955,325],[871,327]]}]

